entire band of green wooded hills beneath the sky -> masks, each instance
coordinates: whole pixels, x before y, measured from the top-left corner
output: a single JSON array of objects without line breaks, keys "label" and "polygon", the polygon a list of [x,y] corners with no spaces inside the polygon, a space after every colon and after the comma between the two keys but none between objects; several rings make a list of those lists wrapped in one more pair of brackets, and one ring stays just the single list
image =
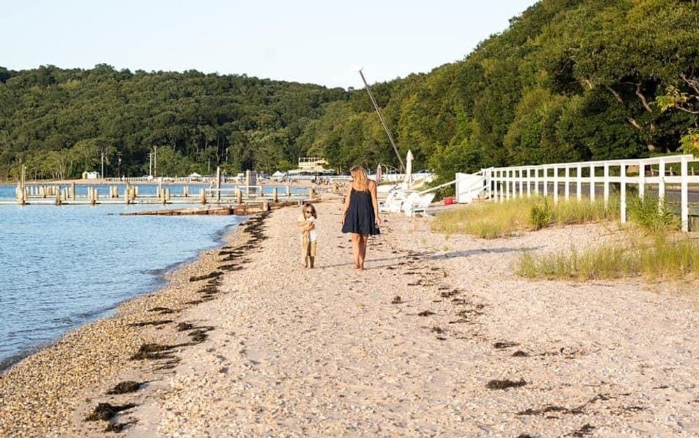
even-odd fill
[{"label": "entire band of green wooded hills beneath the sky", "polygon": [[[372,86],[404,156],[444,178],[487,166],[691,152],[699,2],[542,0],[462,61]],[[367,68],[370,79],[370,68]],[[398,166],[363,89],[42,66],[0,68],[0,179],[267,172],[299,156]]]}]

